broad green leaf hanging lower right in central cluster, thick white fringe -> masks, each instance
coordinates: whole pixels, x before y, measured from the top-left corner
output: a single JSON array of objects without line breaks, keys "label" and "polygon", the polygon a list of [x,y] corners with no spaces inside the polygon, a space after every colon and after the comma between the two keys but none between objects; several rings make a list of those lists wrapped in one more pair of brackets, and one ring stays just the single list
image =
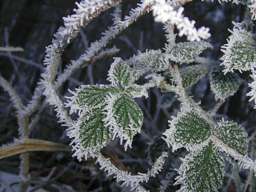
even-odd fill
[{"label": "broad green leaf hanging lower right in central cluster, thick white fringe", "polygon": [[113,95],[106,101],[108,104],[108,115],[105,119],[106,125],[110,125],[110,129],[114,135],[127,140],[127,145],[132,144],[133,136],[140,132],[143,123],[143,113],[138,104],[126,94]]}]

